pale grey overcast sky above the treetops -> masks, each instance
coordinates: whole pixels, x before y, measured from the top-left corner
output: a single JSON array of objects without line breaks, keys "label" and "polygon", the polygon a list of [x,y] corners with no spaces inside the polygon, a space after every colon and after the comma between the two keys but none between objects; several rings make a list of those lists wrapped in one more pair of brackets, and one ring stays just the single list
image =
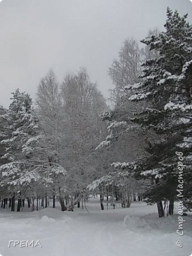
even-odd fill
[{"label": "pale grey overcast sky above the treetops", "polygon": [[59,81],[86,67],[107,98],[108,68],[127,37],[163,29],[166,7],[188,13],[189,0],[3,0],[0,3],[0,105],[20,88],[33,99],[53,68]]}]

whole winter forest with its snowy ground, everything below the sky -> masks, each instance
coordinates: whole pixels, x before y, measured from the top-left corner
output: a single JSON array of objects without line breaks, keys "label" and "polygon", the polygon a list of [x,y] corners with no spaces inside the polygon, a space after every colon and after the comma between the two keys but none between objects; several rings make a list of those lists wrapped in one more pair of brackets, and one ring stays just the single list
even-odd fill
[{"label": "whole winter forest with its snowy ground, everything below the sky", "polygon": [[125,35],[109,100],[89,67],[50,68],[0,107],[0,254],[192,253],[192,25],[166,17]]}]

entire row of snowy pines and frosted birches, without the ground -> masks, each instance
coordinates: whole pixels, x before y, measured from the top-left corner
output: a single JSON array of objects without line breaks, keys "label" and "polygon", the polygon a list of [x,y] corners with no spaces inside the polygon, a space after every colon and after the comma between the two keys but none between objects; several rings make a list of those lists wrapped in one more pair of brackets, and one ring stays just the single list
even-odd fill
[{"label": "entire row of snowy pines and frosted birches, without the ground", "polygon": [[2,207],[9,199],[14,211],[17,200],[20,211],[27,200],[33,211],[35,201],[38,210],[52,198],[53,207],[57,199],[73,211],[90,191],[101,210],[105,197],[114,209],[144,198],[163,217],[173,214],[179,190],[182,209],[192,210],[191,38],[187,15],[168,8],[165,30],[150,30],[143,47],[126,39],[109,68],[111,108],[84,68],[62,83],[50,70],[34,106],[13,92],[10,107],[0,108]]}]

